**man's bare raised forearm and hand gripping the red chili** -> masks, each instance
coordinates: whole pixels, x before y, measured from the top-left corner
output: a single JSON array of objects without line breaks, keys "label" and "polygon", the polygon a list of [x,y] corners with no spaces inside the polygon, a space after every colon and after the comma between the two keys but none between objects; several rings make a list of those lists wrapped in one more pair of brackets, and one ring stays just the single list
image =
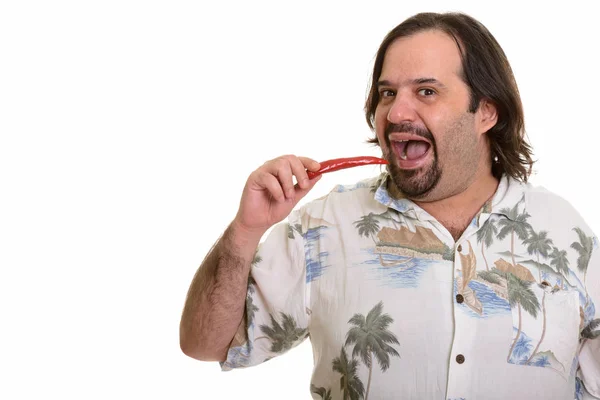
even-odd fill
[{"label": "man's bare raised forearm and hand gripping the red chili", "polygon": [[[250,263],[262,235],[287,217],[314,187],[306,169],[319,163],[284,156],[254,171],[244,187],[238,213],[196,272],[181,317],[181,350],[204,361],[224,361],[242,321]],[[292,177],[298,183],[294,185]]]}]

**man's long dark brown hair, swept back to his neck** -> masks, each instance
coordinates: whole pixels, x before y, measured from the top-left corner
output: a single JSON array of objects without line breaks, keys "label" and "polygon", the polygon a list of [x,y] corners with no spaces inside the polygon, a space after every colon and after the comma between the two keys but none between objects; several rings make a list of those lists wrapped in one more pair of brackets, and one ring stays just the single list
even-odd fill
[{"label": "man's long dark brown hair, swept back to his neck", "polygon": [[[462,13],[420,13],[392,29],[383,39],[373,67],[365,117],[375,127],[375,110],[379,103],[377,81],[389,45],[396,39],[425,30],[439,30],[452,37],[462,58],[462,79],[470,90],[469,112],[475,112],[483,98],[497,108],[498,122],[488,132],[492,173],[500,178],[507,174],[527,182],[533,166],[532,149],[525,137],[523,105],[517,82],[506,54],[483,24]],[[378,144],[377,138],[369,140]]]}]

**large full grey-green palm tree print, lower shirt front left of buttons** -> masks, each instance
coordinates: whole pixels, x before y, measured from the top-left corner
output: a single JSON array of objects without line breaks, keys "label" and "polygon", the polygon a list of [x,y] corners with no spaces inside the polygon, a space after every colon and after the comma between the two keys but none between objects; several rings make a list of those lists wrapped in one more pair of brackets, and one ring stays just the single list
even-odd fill
[{"label": "large full grey-green palm tree print, lower shirt front left of buttons", "polygon": [[382,372],[390,367],[390,355],[400,357],[400,354],[389,345],[389,343],[400,344],[396,336],[388,330],[388,326],[394,320],[389,315],[382,314],[382,311],[383,302],[379,302],[369,311],[366,318],[362,314],[354,314],[348,321],[354,327],[348,331],[345,345],[354,344],[352,357],[359,356],[369,368],[365,400],[369,397],[371,387],[373,356],[377,359]]}]

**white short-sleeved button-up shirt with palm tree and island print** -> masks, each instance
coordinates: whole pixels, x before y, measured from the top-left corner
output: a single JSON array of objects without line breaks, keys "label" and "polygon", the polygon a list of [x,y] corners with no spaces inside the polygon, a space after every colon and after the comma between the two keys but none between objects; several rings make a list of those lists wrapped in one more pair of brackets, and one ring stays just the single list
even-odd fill
[{"label": "white short-sleeved button-up shirt with palm tree and island print", "polygon": [[337,186],[274,227],[222,369],[310,337],[313,399],[600,398],[600,254],[581,216],[504,177],[455,242],[386,183]]}]

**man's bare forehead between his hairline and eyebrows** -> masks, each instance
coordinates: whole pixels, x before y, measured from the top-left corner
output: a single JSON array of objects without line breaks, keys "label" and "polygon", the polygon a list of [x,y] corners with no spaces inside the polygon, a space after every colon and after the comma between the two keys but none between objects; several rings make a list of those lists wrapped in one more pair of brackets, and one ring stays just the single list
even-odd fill
[{"label": "man's bare forehead between his hairline and eyebrows", "polygon": [[439,30],[427,30],[396,39],[383,60],[381,79],[460,76],[462,61],[455,40]]}]

